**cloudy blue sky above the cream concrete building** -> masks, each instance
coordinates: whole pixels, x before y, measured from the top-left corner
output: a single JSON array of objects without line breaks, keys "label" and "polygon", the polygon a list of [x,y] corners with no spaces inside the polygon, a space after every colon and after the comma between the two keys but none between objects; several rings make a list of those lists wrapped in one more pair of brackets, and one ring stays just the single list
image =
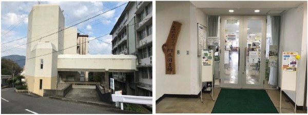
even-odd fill
[{"label": "cloudy blue sky above the cream concrete building", "polygon": [[[58,4],[64,10],[65,27],[78,24],[125,3],[127,2],[40,2],[40,4]],[[23,37],[27,36],[28,14],[35,4],[38,4],[38,2],[1,2],[1,57],[8,55],[26,56],[27,38]],[[112,35],[109,35],[109,33],[126,5],[74,26],[89,35],[89,40],[91,40],[88,44],[89,54],[111,54]],[[84,34],[80,31],[78,32]],[[98,38],[99,40],[92,40],[94,37],[105,34],[108,35]],[[15,41],[6,43],[12,40]],[[22,46],[18,47],[20,45]],[[14,47],[18,48],[12,49]],[[6,51],[9,49],[12,50]]]}]

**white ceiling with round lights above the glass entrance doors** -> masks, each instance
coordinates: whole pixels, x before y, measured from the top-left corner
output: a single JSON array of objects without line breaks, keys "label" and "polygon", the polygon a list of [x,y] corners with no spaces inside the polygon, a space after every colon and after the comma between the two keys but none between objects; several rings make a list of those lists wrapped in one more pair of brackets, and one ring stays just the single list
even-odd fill
[{"label": "white ceiling with round lights above the glass entrance doors", "polygon": [[[306,1],[192,1],[206,15],[267,15],[273,10],[289,10],[297,8]],[[228,10],[234,10],[233,13]],[[258,9],[259,13],[254,11]],[[279,14],[279,13],[278,13]],[[281,14],[281,13],[280,13]],[[271,14],[277,15],[277,14]]]}]

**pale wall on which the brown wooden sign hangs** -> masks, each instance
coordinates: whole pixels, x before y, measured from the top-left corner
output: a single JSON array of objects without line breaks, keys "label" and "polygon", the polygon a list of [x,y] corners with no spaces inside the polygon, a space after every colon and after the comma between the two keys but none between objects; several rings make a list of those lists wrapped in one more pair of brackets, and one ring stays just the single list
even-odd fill
[{"label": "pale wall on which the brown wooden sign hangs", "polygon": [[[201,80],[197,56],[197,22],[206,25],[206,15],[190,2],[156,2],[156,100],[164,94],[198,95]],[[176,45],[176,74],[165,74],[165,43],[172,21],[182,24]],[[159,34],[158,34],[159,33]],[[189,55],[186,55],[189,51]]]}]

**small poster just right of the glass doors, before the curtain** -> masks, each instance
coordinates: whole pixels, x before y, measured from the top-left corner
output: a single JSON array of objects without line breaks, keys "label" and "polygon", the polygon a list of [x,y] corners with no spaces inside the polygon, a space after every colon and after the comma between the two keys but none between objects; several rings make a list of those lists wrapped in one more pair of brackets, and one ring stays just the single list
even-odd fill
[{"label": "small poster just right of the glass doors, before the curtain", "polygon": [[277,45],[269,46],[268,66],[277,67],[278,47]]}]

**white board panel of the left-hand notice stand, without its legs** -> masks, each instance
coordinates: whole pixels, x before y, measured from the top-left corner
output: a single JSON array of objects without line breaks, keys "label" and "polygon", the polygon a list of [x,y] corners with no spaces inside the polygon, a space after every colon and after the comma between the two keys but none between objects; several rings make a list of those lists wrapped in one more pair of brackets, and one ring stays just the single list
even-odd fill
[{"label": "white board panel of the left-hand notice stand, without its legs", "polygon": [[202,50],[202,82],[213,82],[214,52],[213,50]]}]

